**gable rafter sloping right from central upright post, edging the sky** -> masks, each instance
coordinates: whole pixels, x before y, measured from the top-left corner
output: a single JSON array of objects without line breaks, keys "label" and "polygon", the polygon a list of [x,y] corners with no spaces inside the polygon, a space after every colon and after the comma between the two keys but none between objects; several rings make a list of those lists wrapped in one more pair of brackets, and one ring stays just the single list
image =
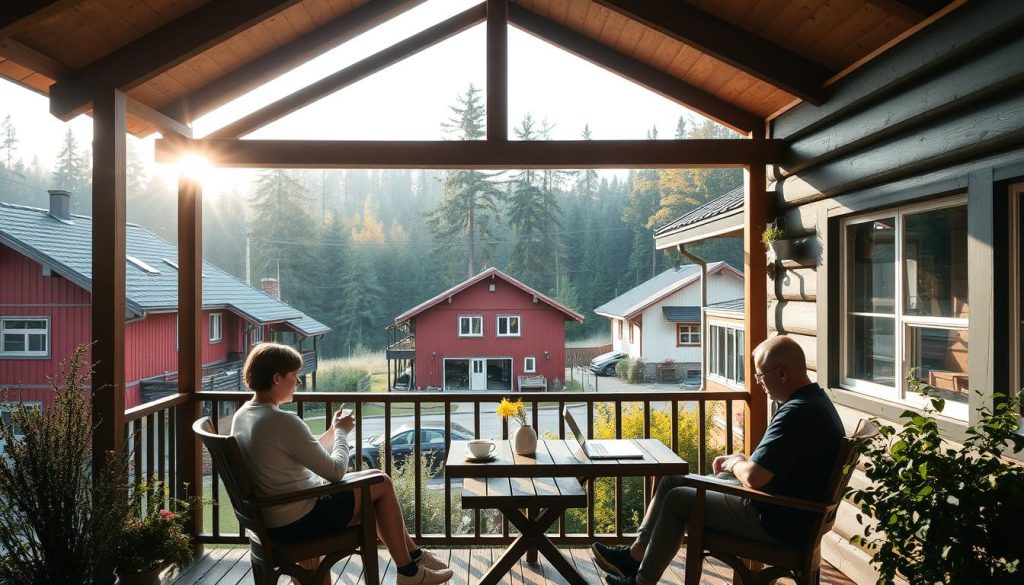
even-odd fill
[{"label": "gable rafter sloping right from central upright post, edging the sky", "polygon": [[554,20],[521,6],[509,5],[509,22],[516,28],[549,42],[654,93],[728,126],[742,134],[764,128],[764,120],[700,88],[643,64],[611,47],[585,37]]}]

